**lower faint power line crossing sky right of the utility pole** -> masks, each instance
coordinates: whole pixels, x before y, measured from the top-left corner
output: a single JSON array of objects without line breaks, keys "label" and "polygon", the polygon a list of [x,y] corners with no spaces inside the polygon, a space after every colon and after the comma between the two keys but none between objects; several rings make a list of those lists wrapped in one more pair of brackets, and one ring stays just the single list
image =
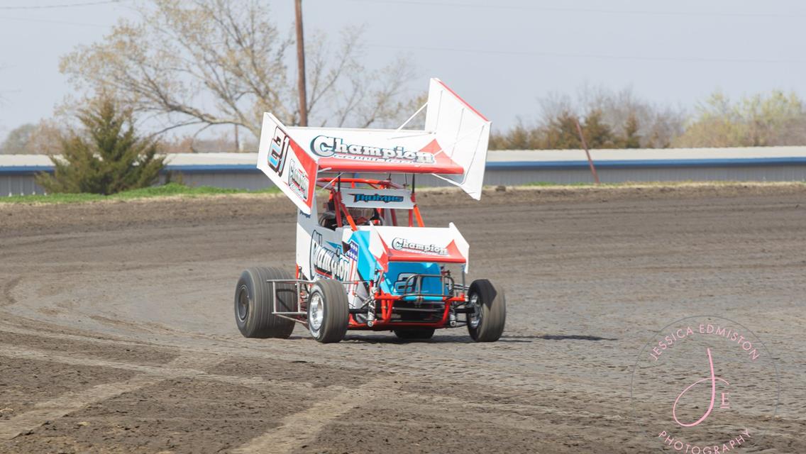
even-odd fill
[{"label": "lower faint power line crossing sky right of the utility pole", "polygon": [[436,47],[413,47],[396,46],[392,44],[368,44],[372,48],[393,48],[400,50],[428,51],[428,52],[467,52],[488,55],[513,55],[513,56],[559,56],[570,58],[596,58],[601,60],[638,60],[638,61],[679,61],[694,63],[757,63],[757,64],[793,64],[806,63],[806,60],[778,60],[778,59],[750,59],[750,58],[711,58],[711,57],[688,57],[688,56],[625,56],[608,54],[588,54],[588,53],[566,53],[566,52],[542,52],[542,51],[496,51],[490,49],[468,49],[468,48],[436,48]]}]

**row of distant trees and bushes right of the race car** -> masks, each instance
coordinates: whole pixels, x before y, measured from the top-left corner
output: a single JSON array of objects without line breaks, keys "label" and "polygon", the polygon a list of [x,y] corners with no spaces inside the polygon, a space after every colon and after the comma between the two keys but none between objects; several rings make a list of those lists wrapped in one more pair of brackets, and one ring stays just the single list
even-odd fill
[{"label": "row of distant trees and bushes right of the race car", "polygon": [[659,107],[631,90],[583,90],[540,103],[538,121],[493,131],[490,149],[692,148],[806,145],[806,110],[795,93],[774,90],[731,100],[717,91],[691,112]]}]

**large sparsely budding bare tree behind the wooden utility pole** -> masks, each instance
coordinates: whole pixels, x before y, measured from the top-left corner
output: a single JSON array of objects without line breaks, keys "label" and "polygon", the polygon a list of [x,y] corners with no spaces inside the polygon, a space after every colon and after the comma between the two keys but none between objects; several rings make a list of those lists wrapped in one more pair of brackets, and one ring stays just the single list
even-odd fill
[{"label": "large sparsely budding bare tree behind the wooden utility pole", "polygon": [[[152,115],[160,131],[239,125],[260,135],[264,111],[298,123],[287,51],[293,40],[272,23],[263,0],[151,0],[138,21],[123,20],[99,43],[64,56],[60,69],[80,89],[114,94]],[[331,48],[307,40],[310,123],[367,127],[401,116],[410,65],[369,70],[360,35]]]}]

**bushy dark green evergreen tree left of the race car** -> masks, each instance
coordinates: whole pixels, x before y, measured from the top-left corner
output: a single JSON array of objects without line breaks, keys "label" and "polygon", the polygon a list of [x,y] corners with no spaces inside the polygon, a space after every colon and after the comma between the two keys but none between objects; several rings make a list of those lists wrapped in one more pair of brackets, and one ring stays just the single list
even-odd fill
[{"label": "bushy dark green evergreen tree left of the race car", "polygon": [[152,185],[164,167],[155,140],[135,133],[130,109],[101,98],[77,118],[81,133],[61,138],[61,158],[51,156],[55,171],[36,181],[50,193],[114,194]]}]

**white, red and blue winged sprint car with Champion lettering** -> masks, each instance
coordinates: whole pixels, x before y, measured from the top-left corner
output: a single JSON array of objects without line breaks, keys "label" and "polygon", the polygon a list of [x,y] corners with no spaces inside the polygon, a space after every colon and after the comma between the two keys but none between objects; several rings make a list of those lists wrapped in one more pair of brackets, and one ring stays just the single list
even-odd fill
[{"label": "white, red and blue winged sprint car with Champion lettering", "polygon": [[[425,128],[404,129],[426,106]],[[489,131],[438,79],[426,105],[394,130],[285,127],[264,114],[257,167],[297,206],[296,267],[243,271],[239,331],[288,338],[302,323],[334,343],[347,330],[430,339],[465,326],[478,342],[499,339],[504,290],[487,279],[467,285],[467,241],[453,223],[426,227],[416,200],[419,174],[478,200]]]}]

